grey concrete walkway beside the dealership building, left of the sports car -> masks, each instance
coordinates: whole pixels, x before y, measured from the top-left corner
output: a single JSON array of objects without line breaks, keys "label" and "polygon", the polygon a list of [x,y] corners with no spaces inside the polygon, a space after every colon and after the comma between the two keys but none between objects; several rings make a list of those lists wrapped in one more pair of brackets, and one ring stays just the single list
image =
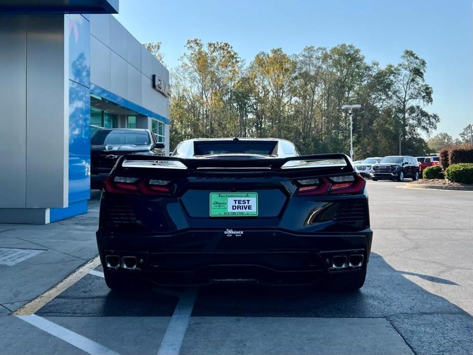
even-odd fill
[{"label": "grey concrete walkway beside the dealership building, left of the sports car", "polygon": [[49,225],[0,224],[0,315],[14,312],[97,255],[99,191],[86,214]]}]

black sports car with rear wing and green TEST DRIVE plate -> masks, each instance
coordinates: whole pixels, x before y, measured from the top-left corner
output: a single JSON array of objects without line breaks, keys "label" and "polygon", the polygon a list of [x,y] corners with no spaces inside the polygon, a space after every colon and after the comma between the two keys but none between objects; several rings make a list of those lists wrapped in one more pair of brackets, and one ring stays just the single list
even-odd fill
[{"label": "black sports car with rear wing and green TEST DRIVE plate", "polygon": [[299,156],[281,139],[195,139],[171,157],[121,157],[97,243],[110,289],[143,282],[363,286],[365,180],[345,154]]}]

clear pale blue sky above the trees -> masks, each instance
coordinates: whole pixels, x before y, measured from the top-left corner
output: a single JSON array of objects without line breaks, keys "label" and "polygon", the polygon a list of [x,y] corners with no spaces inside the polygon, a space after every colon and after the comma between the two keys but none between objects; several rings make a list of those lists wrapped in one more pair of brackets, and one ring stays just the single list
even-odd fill
[{"label": "clear pale blue sky above the trees", "polygon": [[229,42],[246,62],[345,42],[386,65],[412,49],[427,61],[437,132],[456,137],[473,121],[472,14],[471,0],[120,0],[116,17],[139,41],[161,41],[168,68],[189,38]]}]

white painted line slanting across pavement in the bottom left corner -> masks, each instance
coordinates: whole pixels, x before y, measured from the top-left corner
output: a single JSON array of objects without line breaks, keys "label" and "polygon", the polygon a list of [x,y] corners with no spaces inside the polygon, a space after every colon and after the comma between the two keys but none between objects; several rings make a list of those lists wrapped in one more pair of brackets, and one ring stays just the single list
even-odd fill
[{"label": "white painted line slanting across pavement in the bottom left corner", "polygon": [[59,338],[66,343],[69,343],[76,348],[79,348],[91,355],[118,355],[118,352],[110,350],[93,340],[87,339],[72,330],[66,329],[53,323],[45,318],[31,315],[31,316],[16,316],[35,327],[46,331],[47,333]]}]

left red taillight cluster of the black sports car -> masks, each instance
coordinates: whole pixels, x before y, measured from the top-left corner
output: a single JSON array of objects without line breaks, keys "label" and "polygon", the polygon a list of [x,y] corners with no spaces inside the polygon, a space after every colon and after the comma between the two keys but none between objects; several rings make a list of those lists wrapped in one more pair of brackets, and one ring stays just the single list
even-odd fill
[{"label": "left red taillight cluster of the black sports car", "polygon": [[108,177],[104,182],[104,187],[107,192],[118,194],[136,194],[142,193],[144,195],[154,196],[170,196],[169,181],[164,180],[141,180],[138,178],[125,178],[116,176],[114,179]]}]

